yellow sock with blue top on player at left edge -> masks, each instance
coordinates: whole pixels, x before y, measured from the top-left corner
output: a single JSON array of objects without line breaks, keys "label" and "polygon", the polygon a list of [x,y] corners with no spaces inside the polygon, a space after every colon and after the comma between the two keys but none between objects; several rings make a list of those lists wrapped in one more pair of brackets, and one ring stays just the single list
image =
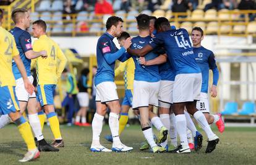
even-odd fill
[{"label": "yellow sock with blue top on player at left edge", "polygon": [[23,140],[27,144],[28,150],[34,150],[36,148],[35,140],[33,138],[32,130],[28,122],[24,119],[24,117],[20,117],[16,121],[20,134],[22,135]]}]

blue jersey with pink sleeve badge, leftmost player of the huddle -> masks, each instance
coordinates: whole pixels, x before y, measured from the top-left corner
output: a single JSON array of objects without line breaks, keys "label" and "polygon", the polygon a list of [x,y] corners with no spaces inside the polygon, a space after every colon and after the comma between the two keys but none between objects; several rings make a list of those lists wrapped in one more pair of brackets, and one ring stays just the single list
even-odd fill
[{"label": "blue jersey with pink sleeve badge, leftmost player of the huddle", "polygon": [[96,47],[96,57],[98,69],[95,75],[95,85],[101,82],[114,82],[114,65],[116,64],[116,59],[114,56],[109,56],[109,54],[125,53],[126,49],[121,48],[118,50],[116,44],[113,42],[114,37],[109,35],[109,33],[104,33],[98,40]]}]

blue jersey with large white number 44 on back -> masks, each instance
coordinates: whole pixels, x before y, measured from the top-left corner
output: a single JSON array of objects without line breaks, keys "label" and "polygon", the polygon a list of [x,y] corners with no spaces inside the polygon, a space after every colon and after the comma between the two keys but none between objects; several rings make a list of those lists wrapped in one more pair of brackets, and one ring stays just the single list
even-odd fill
[{"label": "blue jersey with large white number 44 on back", "polygon": [[184,28],[168,30],[155,35],[150,46],[163,46],[176,74],[198,74],[201,72],[194,58],[189,33]]}]

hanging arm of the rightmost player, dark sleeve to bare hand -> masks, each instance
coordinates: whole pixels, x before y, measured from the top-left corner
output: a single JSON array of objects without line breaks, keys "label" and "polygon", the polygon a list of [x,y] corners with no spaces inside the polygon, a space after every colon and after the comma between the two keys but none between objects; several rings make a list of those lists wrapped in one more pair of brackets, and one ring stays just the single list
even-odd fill
[{"label": "hanging arm of the rightmost player, dark sleeve to bare hand", "polygon": [[218,80],[219,80],[219,70],[216,65],[215,56],[213,53],[208,57],[208,64],[209,64],[210,69],[213,72],[213,85],[211,87],[211,96],[213,98],[215,98],[217,96],[217,84],[218,84]]}]

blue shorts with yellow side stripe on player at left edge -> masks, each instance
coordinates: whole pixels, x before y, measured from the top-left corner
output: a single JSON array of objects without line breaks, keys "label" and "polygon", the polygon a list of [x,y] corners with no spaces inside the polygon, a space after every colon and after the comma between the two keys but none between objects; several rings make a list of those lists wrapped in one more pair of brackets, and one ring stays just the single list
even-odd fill
[{"label": "blue shorts with yellow side stripe on player at left edge", "polygon": [[15,95],[15,87],[0,87],[0,114],[9,114],[19,110],[19,102]]}]

